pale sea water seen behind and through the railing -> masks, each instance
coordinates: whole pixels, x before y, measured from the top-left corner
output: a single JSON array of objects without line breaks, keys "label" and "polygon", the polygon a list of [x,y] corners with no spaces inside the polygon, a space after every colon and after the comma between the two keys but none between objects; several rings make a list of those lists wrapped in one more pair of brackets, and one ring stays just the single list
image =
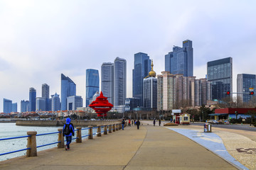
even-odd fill
[{"label": "pale sea water seen behind and through the railing", "polygon": [[[17,126],[16,123],[0,123],[0,139],[9,138],[9,137],[20,137],[26,136],[28,131],[36,131],[37,134],[49,133],[49,132],[58,132],[58,128],[60,127],[37,127],[37,126]],[[93,129],[95,132],[96,129]],[[88,130],[82,130],[82,136],[87,135]],[[75,136],[74,136],[75,137]],[[0,140],[0,154],[4,154],[6,152],[12,152],[19,149],[26,149],[27,138],[18,138],[13,140]],[[72,140],[74,142],[75,140]],[[36,145],[46,145],[49,143],[58,142],[58,133],[52,135],[41,135],[36,137]],[[57,144],[48,145],[46,147],[38,147],[37,151],[50,149],[53,147],[57,147]],[[5,154],[0,156],[0,161],[4,161],[6,159],[11,159],[14,157],[20,157],[22,155],[26,155],[26,150],[21,152],[15,152],[12,154]]]}]

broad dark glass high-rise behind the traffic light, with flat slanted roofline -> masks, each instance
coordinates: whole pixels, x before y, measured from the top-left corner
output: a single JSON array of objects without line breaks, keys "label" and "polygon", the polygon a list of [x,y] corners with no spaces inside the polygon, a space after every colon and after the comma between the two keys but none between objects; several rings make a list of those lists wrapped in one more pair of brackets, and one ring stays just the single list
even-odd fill
[{"label": "broad dark glass high-rise behind the traffic light, with flat slanted roofline", "polygon": [[225,98],[227,91],[232,93],[232,70],[232,57],[207,62],[207,79],[211,84],[213,99],[221,100]]}]

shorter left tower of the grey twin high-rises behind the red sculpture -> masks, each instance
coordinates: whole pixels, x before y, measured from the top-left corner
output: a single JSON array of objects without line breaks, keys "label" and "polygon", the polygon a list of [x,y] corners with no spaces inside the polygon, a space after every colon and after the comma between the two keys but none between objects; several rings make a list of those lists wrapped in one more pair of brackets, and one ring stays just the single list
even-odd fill
[{"label": "shorter left tower of the grey twin high-rises behind the red sculpture", "polygon": [[103,62],[101,67],[101,91],[110,103],[114,103],[114,63]]}]

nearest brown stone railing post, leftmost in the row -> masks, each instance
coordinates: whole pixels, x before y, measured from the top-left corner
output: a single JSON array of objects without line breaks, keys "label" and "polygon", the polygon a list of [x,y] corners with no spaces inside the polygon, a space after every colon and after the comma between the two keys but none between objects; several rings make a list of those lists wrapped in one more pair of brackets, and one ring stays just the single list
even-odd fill
[{"label": "nearest brown stone railing post, leftmost in the row", "polygon": [[28,145],[27,147],[30,148],[26,152],[26,157],[36,157],[37,156],[37,151],[36,151],[36,131],[28,131]]}]

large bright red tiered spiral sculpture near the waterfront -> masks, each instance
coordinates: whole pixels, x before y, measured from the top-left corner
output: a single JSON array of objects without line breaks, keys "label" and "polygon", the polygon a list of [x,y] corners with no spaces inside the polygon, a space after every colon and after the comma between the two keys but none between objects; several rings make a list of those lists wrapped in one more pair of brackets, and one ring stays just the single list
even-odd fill
[{"label": "large bright red tiered spiral sculpture near the waterfront", "polygon": [[104,114],[104,116],[107,116],[107,112],[111,110],[113,105],[112,103],[107,101],[107,97],[103,96],[101,91],[100,96],[98,96],[95,101],[92,101],[89,107],[95,110],[98,117],[102,117],[102,114]]}]

